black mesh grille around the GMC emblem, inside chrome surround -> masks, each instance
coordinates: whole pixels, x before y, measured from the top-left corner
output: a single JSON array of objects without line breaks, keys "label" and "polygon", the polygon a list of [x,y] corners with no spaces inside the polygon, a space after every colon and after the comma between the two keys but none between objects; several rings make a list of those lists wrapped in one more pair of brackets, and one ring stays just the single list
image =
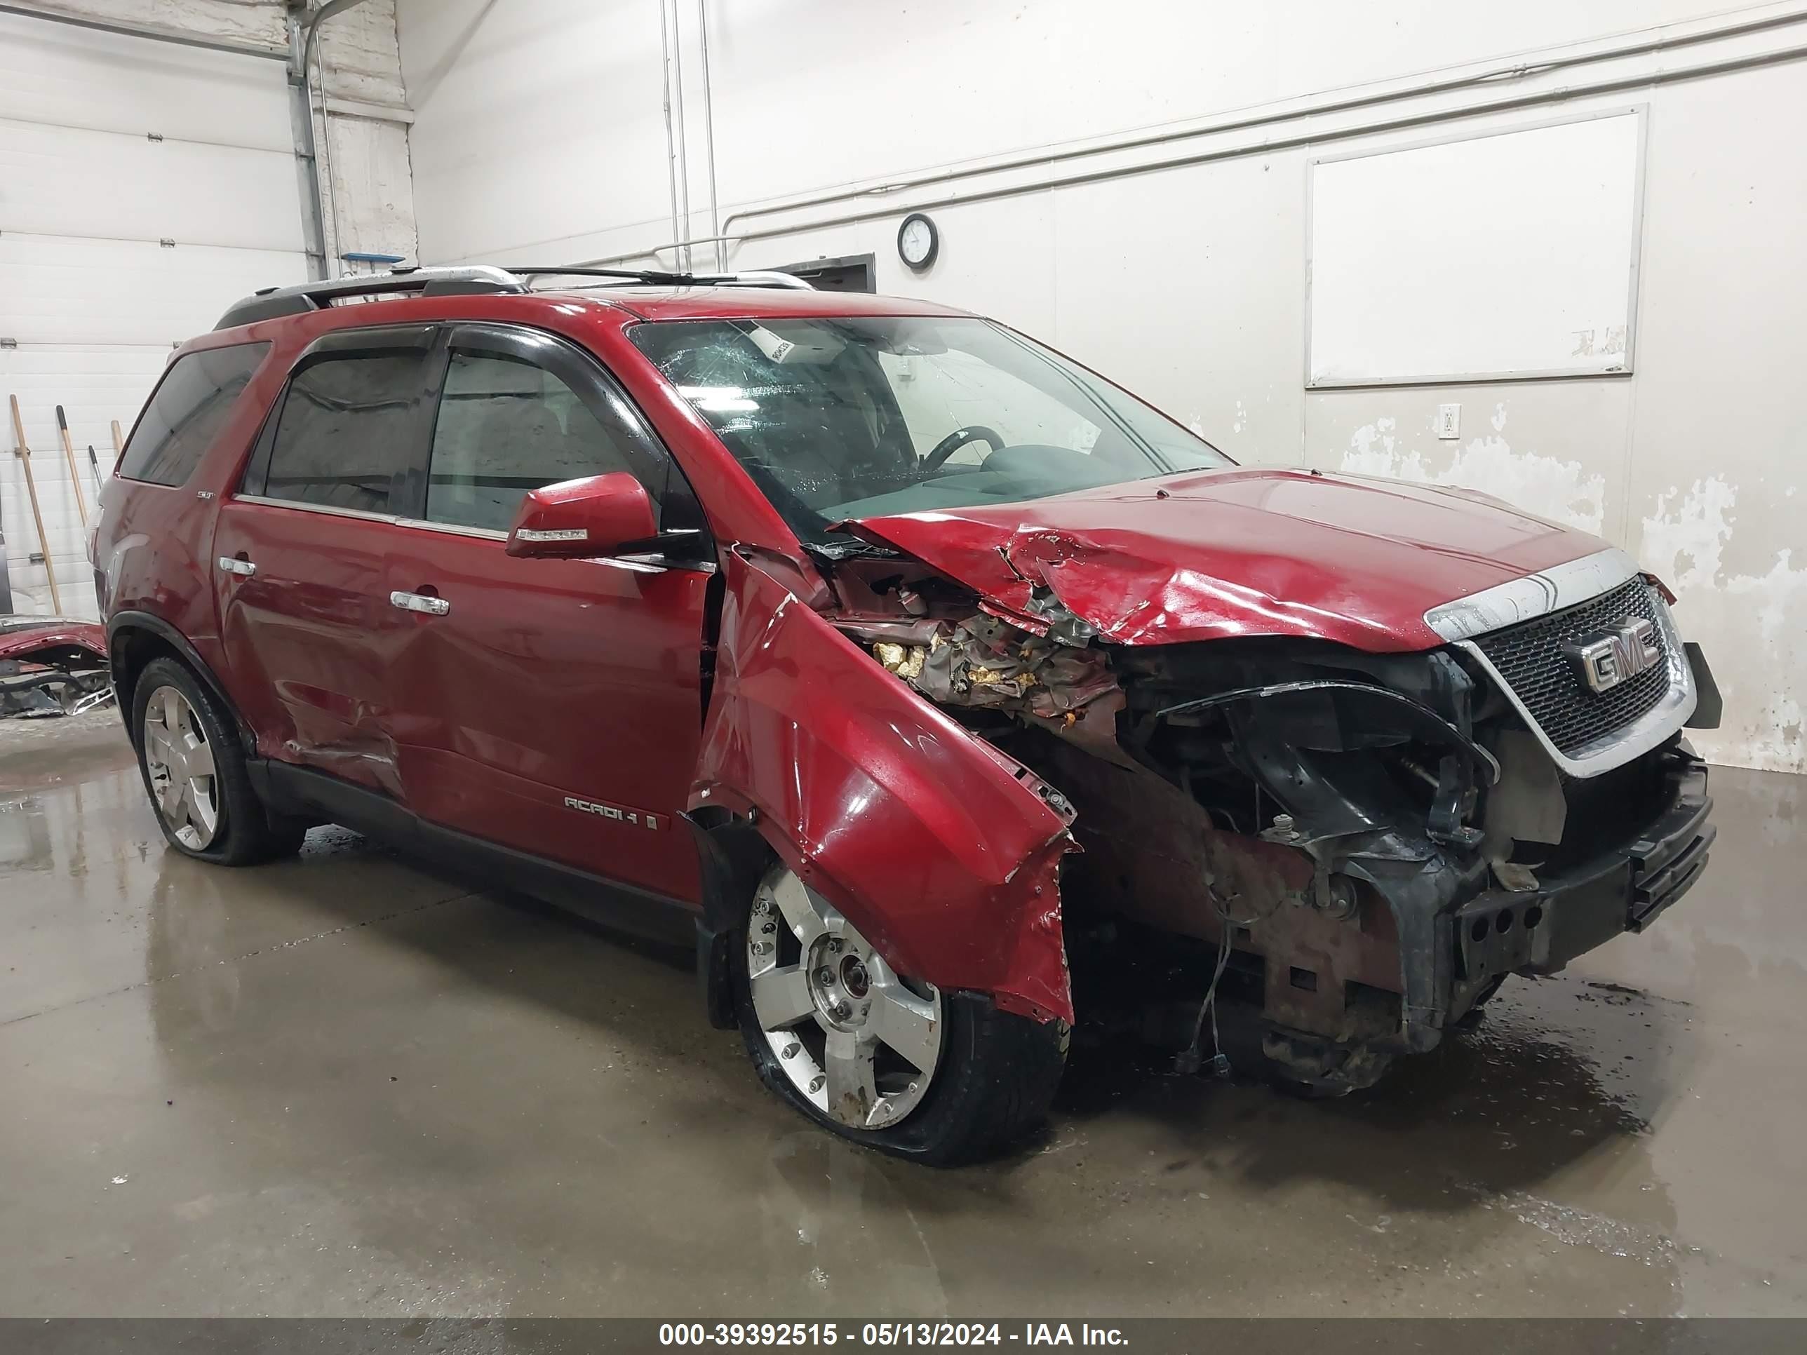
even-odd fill
[{"label": "black mesh grille around the GMC emblem, inside chrome surround", "polygon": [[[1628,578],[1588,602],[1476,636],[1475,645],[1498,668],[1545,737],[1563,755],[1572,755],[1644,715],[1668,692],[1670,638],[1661,607],[1662,602],[1641,576]],[[1614,631],[1632,616],[1648,618],[1655,627],[1662,658],[1617,687],[1590,692],[1563,645],[1594,631]]]}]

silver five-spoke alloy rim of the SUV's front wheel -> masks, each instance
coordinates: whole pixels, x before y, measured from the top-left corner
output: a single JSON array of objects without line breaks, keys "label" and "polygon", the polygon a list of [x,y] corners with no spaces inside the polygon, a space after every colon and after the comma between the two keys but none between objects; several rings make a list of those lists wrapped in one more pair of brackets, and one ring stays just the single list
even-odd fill
[{"label": "silver five-spoke alloy rim of the SUV's front wheel", "polygon": [[900,977],[784,867],[754,898],[746,976],[772,1055],[819,1111],[885,1129],[922,1104],[941,1053],[941,994]]}]

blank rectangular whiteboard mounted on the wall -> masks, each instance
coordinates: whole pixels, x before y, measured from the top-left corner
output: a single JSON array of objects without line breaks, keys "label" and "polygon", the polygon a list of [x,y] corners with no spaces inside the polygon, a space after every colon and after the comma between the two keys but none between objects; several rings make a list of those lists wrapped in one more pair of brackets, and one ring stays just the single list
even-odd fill
[{"label": "blank rectangular whiteboard mounted on the wall", "polygon": [[1306,385],[1632,370],[1643,108],[1314,161]]}]

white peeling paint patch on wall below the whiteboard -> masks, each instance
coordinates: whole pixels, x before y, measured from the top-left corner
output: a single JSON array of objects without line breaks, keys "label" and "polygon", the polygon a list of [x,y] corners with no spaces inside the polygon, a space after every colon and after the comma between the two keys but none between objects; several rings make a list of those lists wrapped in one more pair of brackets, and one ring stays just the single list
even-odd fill
[{"label": "white peeling paint patch on wall below the whiteboard", "polygon": [[1581,531],[1601,531],[1606,522],[1606,477],[1587,475],[1578,461],[1558,461],[1536,452],[1514,452],[1500,437],[1505,405],[1494,406],[1494,434],[1475,437],[1447,464],[1442,452],[1426,455],[1402,444],[1397,419],[1375,419],[1350,437],[1341,468],[1352,475],[1384,475],[1422,484],[1456,484],[1480,490],[1523,508],[1527,513]]}]

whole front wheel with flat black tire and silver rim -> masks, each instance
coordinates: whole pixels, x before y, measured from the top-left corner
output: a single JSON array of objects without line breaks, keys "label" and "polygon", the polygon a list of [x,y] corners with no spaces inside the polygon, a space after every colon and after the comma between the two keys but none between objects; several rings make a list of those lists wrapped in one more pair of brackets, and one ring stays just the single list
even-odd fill
[{"label": "whole front wheel with flat black tire and silver rim", "polygon": [[[811,909],[820,923],[820,932],[815,932],[817,923],[804,920],[802,929],[811,930],[808,941],[797,936],[793,921],[802,907]],[[775,925],[770,932],[764,930],[768,923]],[[838,947],[828,950],[835,943]],[[777,950],[755,954],[754,945]],[[802,963],[810,954],[806,947],[838,965],[840,986],[810,983],[810,976],[822,974],[828,965]],[[786,976],[786,992],[797,995],[793,1006],[813,1001],[813,1010],[773,1028],[775,1014],[790,1017],[795,1012],[773,1006],[766,997],[763,1021],[761,1005],[754,1001],[757,965],[768,967],[759,972],[763,994],[772,992],[768,979]],[[759,1079],[779,1098],[855,1144],[936,1167],[974,1162],[1037,1127],[1059,1088],[1068,1042],[1063,1023],[1030,1021],[999,1012],[983,994],[938,992],[894,974],[833,905],[784,865],[773,865],[755,898],[748,900],[746,920],[728,938],[728,970],[735,1017]],[[808,999],[797,986],[799,977],[810,986]],[[851,1024],[835,1021],[835,997],[858,1008]],[[900,1041],[900,1048],[911,1050],[911,1059],[884,1039],[871,1037],[878,1039],[876,1073],[857,1093],[831,1097],[860,1079],[846,1073],[851,1066],[846,1057],[831,1057],[835,1046],[829,1041],[838,1041],[844,1055],[849,1044],[858,1044],[860,1032],[896,1026],[894,1015],[873,1015],[887,1003],[891,1012],[934,1014],[925,1024],[913,1026],[932,1030],[932,1035],[922,1044]],[[929,1044],[932,1055],[925,1053]],[[914,1062],[918,1057],[931,1066],[922,1068]],[[829,1086],[829,1071],[837,1073],[833,1080],[840,1088]],[[817,1079],[820,1084],[813,1086]],[[878,1098],[871,1100],[871,1093]]]}]

